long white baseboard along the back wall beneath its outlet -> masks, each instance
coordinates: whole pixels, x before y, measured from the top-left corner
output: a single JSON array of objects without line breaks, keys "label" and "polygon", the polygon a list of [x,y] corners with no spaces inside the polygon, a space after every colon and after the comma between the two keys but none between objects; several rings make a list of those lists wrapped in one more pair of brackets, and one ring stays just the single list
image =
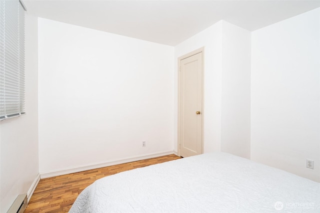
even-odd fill
[{"label": "long white baseboard along the back wall beneath its outlet", "polygon": [[70,169],[57,170],[57,171],[52,171],[52,172],[43,172],[40,174],[40,177],[42,179],[42,178],[47,178],[47,177],[59,176],[59,175],[63,175],[63,174],[70,174],[70,173],[75,173],[75,172],[79,172],[79,171],[86,171],[86,170],[101,168],[101,167],[110,166],[110,165],[116,165],[116,164],[121,164],[121,163],[126,163],[126,162],[133,162],[133,161],[137,161],[137,160],[148,159],[148,158],[152,158],[152,157],[160,157],[160,156],[164,156],[164,155],[168,155],[168,154],[173,154],[173,151],[156,152],[156,153],[151,153],[151,154],[146,154],[146,155],[133,156],[133,157],[129,157],[129,158],[121,158],[121,159],[117,159],[117,160],[112,160],[112,161],[107,161],[107,162],[102,162],[102,163],[97,163],[97,164],[92,164],[92,165],[85,165],[85,166],[80,166],[80,167],[75,167],[75,168],[70,168]]}]

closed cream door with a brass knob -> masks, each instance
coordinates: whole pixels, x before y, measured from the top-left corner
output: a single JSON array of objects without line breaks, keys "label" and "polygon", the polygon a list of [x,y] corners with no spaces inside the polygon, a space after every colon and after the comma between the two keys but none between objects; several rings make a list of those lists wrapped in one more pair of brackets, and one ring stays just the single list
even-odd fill
[{"label": "closed cream door with a brass knob", "polygon": [[202,153],[202,51],[179,65],[178,148],[187,157]]}]

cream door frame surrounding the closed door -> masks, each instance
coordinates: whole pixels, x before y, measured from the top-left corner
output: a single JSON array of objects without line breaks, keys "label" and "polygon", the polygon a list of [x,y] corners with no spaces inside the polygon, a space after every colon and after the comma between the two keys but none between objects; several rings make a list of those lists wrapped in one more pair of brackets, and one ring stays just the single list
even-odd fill
[{"label": "cream door frame surrounding the closed door", "polygon": [[201,153],[203,153],[203,70],[204,70],[204,46],[201,47],[201,48],[198,48],[196,50],[193,50],[187,54],[184,54],[180,57],[178,57],[178,69],[177,69],[177,72],[178,72],[178,109],[177,109],[177,114],[178,114],[178,120],[177,120],[177,154],[178,156],[180,156],[180,107],[181,107],[181,102],[180,102],[180,95],[181,95],[181,91],[180,91],[180,81],[181,81],[181,73],[180,73],[180,66],[181,66],[181,60],[187,58],[187,57],[190,57],[192,55],[195,55],[197,53],[200,53],[202,52],[202,70],[201,70],[201,76],[202,76],[202,79],[201,79],[201,116],[202,116],[202,119],[201,119]]}]

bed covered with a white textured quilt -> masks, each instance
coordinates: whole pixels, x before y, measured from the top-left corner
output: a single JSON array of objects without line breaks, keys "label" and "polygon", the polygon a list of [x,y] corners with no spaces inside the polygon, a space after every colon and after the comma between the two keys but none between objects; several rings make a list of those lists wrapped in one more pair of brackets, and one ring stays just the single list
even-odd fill
[{"label": "bed covered with a white textured quilt", "polygon": [[213,152],[98,179],[69,212],[320,212],[320,183]]}]

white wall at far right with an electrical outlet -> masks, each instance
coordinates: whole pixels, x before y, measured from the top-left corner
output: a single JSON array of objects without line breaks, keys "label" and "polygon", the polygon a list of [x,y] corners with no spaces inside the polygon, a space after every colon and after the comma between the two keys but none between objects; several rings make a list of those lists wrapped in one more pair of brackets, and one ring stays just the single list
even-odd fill
[{"label": "white wall at far right with an electrical outlet", "polygon": [[317,8],[253,31],[251,44],[251,159],[316,181],[319,16]]}]

